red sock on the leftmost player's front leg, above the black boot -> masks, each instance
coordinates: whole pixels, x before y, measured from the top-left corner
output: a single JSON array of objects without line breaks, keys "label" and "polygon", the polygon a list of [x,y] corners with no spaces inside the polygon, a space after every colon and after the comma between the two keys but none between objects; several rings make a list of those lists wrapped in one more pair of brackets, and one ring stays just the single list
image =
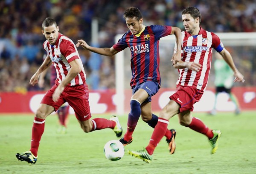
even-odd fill
[{"label": "red sock on the leftmost player's front leg, above the black boot", "polygon": [[44,122],[44,119],[36,117],[34,118],[30,151],[33,155],[35,155],[35,157],[37,157],[39,143],[44,133]]}]

